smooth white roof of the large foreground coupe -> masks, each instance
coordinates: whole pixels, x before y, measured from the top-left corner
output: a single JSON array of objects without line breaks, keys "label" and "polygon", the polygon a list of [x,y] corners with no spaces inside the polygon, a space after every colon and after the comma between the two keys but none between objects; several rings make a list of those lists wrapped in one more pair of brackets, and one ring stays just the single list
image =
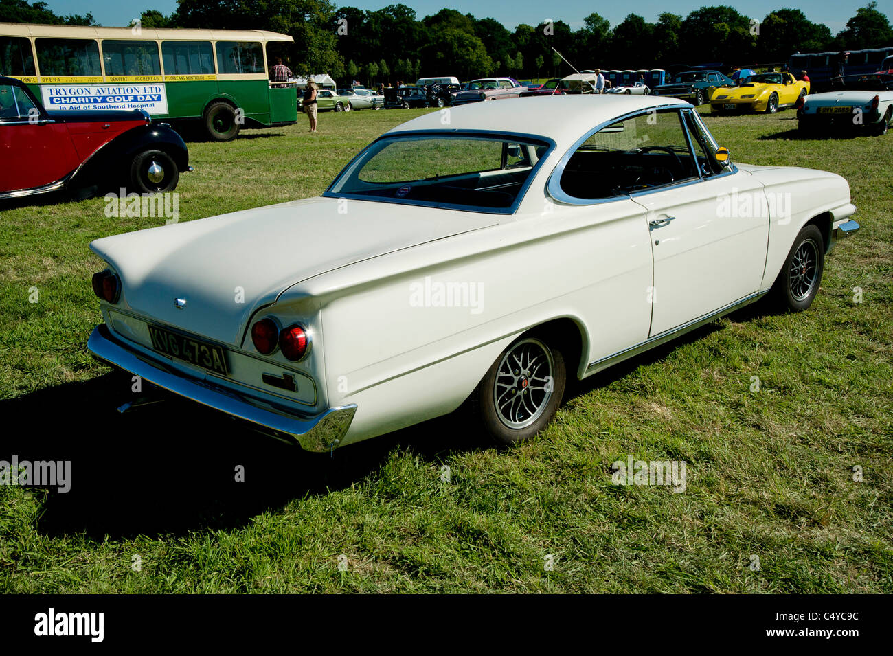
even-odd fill
[{"label": "smooth white roof of the large foreground coupe", "polygon": [[[563,153],[588,130],[613,118],[652,107],[689,106],[684,100],[655,95],[548,95],[512,98],[498,103],[471,103],[448,109],[445,125],[442,113],[429,112],[408,120],[387,135],[411,130],[438,132],[513,132],[548,137]],[[560,120],[556,120],[560,117]]]}]

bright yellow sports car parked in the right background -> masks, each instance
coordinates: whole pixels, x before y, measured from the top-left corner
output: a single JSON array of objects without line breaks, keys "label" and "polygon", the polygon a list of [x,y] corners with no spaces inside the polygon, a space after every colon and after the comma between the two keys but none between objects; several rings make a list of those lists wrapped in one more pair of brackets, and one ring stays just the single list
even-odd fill
[{"label": "bright yellow sports car parked in the right background", "polygon": [[710,97],[713,112],[766,112],[795,107],[809,93],[809,82],[790,73],[757,73],[738,87],[718,88]]}]

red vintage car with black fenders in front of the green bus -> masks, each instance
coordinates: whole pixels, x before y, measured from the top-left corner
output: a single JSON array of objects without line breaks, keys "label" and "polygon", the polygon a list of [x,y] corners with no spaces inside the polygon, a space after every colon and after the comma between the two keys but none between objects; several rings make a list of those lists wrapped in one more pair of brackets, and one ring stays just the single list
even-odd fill
[{"label": "red vintage car with black fenders in front of the green bus", "polygon": [[192,170],[183,139],[142,110],[47,112],[20,80],[0,77],[0,199],[92,187],[171,191]]}]

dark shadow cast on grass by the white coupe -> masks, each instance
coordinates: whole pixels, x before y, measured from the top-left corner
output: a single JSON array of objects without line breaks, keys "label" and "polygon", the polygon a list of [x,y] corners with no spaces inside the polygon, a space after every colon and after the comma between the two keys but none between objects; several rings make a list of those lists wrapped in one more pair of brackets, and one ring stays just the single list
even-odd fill
[{"label": "dark shadow cast on grass by the white coupe", "polygon": [[[763,313],[760,305],[751,305],[730,319],[753,320]],[[563,403],[721,329],[714,321],[573,381]],[[439,467],[455,453],[495,448],[465,406],[331,454],[307,453],[176,397],[121,414],[115,409],[135,398],[129,386],[129,378],[107,374],[0,401],[2,416],[31,427],[6,431],[0,460],[12,461],[14,455],[20,462],[70,463],[71,489],[51,488],[43,499],[41,534],[84,533],[101,540],[230,530],[264,511],[280,511],[375,476],[395,452],[413,453]]]}]

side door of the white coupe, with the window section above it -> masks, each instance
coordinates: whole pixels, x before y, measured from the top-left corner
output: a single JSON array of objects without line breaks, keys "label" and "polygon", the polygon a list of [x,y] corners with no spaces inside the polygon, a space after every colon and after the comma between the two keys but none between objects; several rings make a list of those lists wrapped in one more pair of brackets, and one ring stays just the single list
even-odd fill
[{"label": "side door of the white coupe, with the window section above it", "polygon": [[[693,112],[663,110],[652,112],[649,120],[640,129],[643,147],[674,154],[655,164],[670,167],[672,181],[631,194],[646,210],[651,235],[653,337],[759,290],[769,212],[761,184],[716,162],[712,137]],[[662,177],[669,175],[648,182]]]}]

